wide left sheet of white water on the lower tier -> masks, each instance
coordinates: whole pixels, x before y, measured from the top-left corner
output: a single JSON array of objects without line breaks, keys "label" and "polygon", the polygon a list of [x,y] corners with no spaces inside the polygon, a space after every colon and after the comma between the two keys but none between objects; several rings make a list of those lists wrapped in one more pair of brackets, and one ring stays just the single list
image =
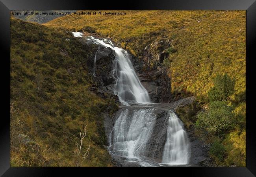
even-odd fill
[{"label": "wide left sheet of white water on the lower tier", "polygon": [[148,166],[142,157],[156,122],[156,115],[153,112],[154,109],[121,111],[113,128],[111,153]]}]

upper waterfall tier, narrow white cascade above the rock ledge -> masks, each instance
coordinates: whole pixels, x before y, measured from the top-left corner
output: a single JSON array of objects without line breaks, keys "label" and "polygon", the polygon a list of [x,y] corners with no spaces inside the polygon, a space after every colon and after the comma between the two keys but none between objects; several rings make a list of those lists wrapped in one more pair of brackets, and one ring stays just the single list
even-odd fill
[{"label": "upper waterfall tier, narrow white cascade above the rock ledge", "polygon": [[147,90],[141,85],[137,74],[128,57],[128,53],[122,48],[115,47],[107,39],[100,40],[90,37],[96,44],[109,47],[115,51],[113,61],[113,77],[116,80],[114,93],[119,97],[119,101],[124,105],[134,103],[150,104]]}]

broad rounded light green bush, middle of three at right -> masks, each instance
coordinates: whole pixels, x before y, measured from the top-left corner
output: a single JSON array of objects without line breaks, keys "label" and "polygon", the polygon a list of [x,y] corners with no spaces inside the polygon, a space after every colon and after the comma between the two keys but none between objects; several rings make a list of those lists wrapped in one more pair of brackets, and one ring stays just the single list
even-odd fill
[{"label": "broad rounded light green bush, middle of three at right", "polygon": [[197,114],[196,127],[217,136],[224,136],[233,126],[233,108],[226,101],[210,102],[209,109]]}]

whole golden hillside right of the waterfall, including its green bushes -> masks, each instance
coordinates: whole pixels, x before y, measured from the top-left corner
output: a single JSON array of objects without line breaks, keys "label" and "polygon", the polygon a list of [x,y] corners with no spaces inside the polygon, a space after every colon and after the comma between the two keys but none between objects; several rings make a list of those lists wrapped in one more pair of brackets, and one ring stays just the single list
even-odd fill
[{"label": "whole golden hillside right of the waterfall, including its green bushes", "polygon": [[199,102],[178,109],[179,117],[211,144],[209,154],[218,165],[245,166],[246,11],[113,12],[126,15],[67,15],[45,25],[91,29],[85,31],[111,38],[139,59],[154,41],[171,41],[162,63],[171,92]]}]

